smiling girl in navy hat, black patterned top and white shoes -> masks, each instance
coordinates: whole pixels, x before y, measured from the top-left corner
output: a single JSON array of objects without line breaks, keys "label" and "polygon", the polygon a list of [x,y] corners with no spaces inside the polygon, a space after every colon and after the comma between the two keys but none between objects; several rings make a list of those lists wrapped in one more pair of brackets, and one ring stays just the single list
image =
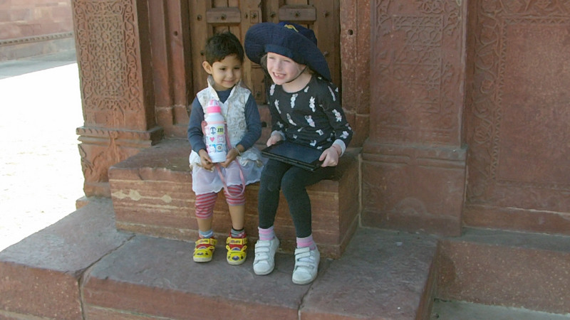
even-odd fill
[{"label": "smiling girl in navy hat, black patterned top and white shoes", "polygon": [[292,280],[307,284],[316,278],[321,255],[312,236],[311,201],[306,186],[333,176],[334,166],[353,131],[313,31],[294,23],[258,23],[247,31],[244,47],[248,58],[261,64],[273,80],[268,90],[273,132],[267,146],[287,139],[323,151],[322,167],[316,171],[269,160],[259,185],[259,240],[255,245],[254,272],[269,274],[274,269],[274,255],[279,247],[274,221],[281,190],[296,231]]}]

